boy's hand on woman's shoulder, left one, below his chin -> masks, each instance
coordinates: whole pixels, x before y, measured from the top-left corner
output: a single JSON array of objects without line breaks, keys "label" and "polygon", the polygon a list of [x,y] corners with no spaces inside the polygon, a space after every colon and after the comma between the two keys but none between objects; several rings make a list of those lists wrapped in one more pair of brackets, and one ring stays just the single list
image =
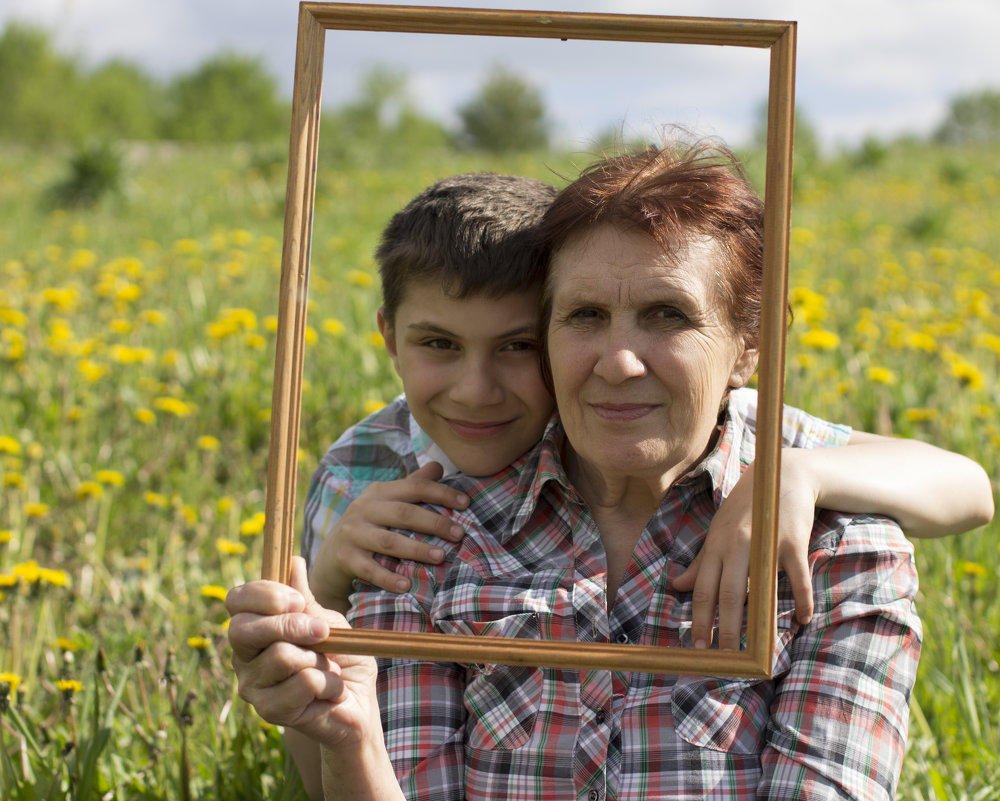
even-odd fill
[{"label": "boy's hand on woman's shoulder, left one, below his chin", "polygon": [[438,483],[443,470],[437,462],[424,465],[406,478],[369,485],[347,507],[344,516],[324,538],[316,555],[310,584],[324,606],[342,609],[355,577],[390,592],[406,592],[410,580],[383,567],[376,554],[438,564],[444,550],[402,531],[430,534],[449,542],[465,536],[461,526],[419,504],[464,509],[469,498]]}]

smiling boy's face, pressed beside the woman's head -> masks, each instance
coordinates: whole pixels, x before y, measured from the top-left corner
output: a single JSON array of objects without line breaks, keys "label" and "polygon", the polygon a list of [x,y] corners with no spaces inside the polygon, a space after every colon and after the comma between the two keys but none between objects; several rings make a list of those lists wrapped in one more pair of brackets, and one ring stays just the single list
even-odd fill
[{"label": "smiling boy's face, pressed beside the woman's head", "polygon": [[379,330],[410,411],[463,473],[487,476],[541,438],[553,400],[538,368],[538,293],[449,297],[409,286]]}]

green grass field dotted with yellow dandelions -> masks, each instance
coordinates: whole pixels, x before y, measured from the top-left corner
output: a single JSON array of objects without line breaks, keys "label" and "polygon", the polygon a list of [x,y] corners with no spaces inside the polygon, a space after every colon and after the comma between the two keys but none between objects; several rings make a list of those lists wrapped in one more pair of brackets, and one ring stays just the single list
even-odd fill
[{"label": "green grass field dotted with yellow dandelions", "polygon": [[[559,183],[572,162],[321,167],[300,489],[398,391],[370,255],[389,215],[442,175]],[[120,193],[53,210],[65,156],[0,152],[0,801],[296,798],[279,732],[235,694],[223,607],[260,563],[283,165],[166,146],[125,164]],[[797,176],[787,400],[995,482],[998,209],[995,150],[900,144]],[[917,545],[899,798],[1000,796],[998,534]]]}]

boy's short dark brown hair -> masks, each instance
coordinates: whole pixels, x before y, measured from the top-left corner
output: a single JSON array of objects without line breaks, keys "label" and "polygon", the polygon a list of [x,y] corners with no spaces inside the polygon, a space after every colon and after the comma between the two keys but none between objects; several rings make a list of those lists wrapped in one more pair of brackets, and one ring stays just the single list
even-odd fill
[{"label": "boy's short dark brown hair", "polygon": [[375,251],[388,323],[414,281],[439,283],[456,298],[541,287],[535,229],[555,196],[534,178],[488,172],[444,178],[417,195],[389,221]]}]

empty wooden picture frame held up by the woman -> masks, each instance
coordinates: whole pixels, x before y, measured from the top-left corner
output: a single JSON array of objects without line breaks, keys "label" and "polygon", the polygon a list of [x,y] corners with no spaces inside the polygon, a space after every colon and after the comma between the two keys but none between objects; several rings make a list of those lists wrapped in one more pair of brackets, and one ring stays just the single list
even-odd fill
[{"label": "empty wooden picture frame held up by the woman", "polygon": [[460,663],[767,678],[776,636],[776,538],[788,292],[794,123],[794,22],[303,2],[299,5],[281,261],[262,577],[287,581],[323,50],[328,30],[456,34],[768,48],[764,303],[758,367],[747,647],[740,652],[603,643],[338,630],[319,650]]}]

